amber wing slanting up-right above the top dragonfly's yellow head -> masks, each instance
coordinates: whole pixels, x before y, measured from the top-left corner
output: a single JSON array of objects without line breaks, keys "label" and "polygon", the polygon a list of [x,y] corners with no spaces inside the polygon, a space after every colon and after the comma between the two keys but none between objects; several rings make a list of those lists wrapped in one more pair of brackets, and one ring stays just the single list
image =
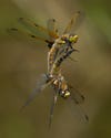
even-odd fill
[{"label": "amber wing slanting up-right above the top dragonfly's yellow head", "polygon": [[69,21],[67,28],[63,31],[63,34],[65,33],[71,33],[71,29],[73,29],[74,31],[79,28],[79,25],[81,24],[81,22],[84,19],[84,13],[78,11],[74,12],[71,20]]}]

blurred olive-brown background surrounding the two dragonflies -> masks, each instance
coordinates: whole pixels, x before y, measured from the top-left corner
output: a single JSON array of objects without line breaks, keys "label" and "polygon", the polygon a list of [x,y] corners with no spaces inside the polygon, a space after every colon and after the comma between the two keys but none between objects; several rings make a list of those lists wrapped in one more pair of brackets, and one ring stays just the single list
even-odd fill
[{"label": "blurred olive-brown background surrounding the two dragonflies", "polygon": [[[62,72],[85,95],[81,105],[89,115],[83,121],[78,109],[60,100],[48,129],[52,89],[49,87],[20,112],[47,72],[48,47],[21,33],[7,29],[26,26],[18,18],[29,18],[47,26],[56,18],[62,31],[74,11],[85,17],[75,32],[79,53],[67,60]],[[37,32],[38,34],[38,32]],[[44,34],[41,34],[44,36]],[[0,138],[111,138],[111,2],[110,0],[0,0]]]}]

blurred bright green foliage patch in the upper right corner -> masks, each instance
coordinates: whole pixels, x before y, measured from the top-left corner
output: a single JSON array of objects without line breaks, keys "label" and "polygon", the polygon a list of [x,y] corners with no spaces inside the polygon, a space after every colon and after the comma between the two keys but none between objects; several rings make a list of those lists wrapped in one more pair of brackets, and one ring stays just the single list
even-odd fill
[{"label": "blurred bright green foliage patch in the upper right corner", "polygon": [[[105,40],[108,43],[104,43],[103,50],[111,50],[111,1],[110,0],[93,0],[90,1],[81,1],[82,7],[89,15],[89,19],[93,24],[95,24],[97,31],[102,33],[103,41]],[[97,34],[95,34],[97,36]],[[101,38],[100,38],[101,39]],[[101,40],[102,40],[101,39]]]}]

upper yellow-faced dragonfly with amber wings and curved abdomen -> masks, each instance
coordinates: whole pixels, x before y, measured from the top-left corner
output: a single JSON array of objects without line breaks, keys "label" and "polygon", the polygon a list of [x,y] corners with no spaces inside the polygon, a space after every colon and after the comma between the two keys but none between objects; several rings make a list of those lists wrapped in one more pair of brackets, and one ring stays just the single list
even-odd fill
[{"label": "upper yellow-faced dragonfly with amber wings and curved abdomen", "polygon": [[[57,57],[60,59],[59,62],[58,62],[59,65],[67,57],[69,57],[71,61],[74,61],[70,56],[70,54],[72,52],[78,51],[78,50],[74,50],[72,47],[72,43],[77,43],[79,36],[77,34],[71,34],[70,32],[71,32],[72,25],[75,26],[75,28],[79,26],[79,24],[81,22],[81,19],[82,19],[80,17],[83,17],[83,14],[81,15],[80,11],[74,12],[73,17],[71,18],[71,20],[68,23],[67,28],[64,29],[62,35],[59,34],[59,31],[56,28],[57,22],[56,22],[54,19],[49,19],[48,24],[47,24],[48,29],[47,29],[47,28],[43,28],[43,26],[30,21],[29,19],[19,18],[19,21],[21,23],[28,24],[29,26],[33,28],[34,30],[39,30],[39,31],[48,33],[49,34],[49,40],[37,36],[37,35],[31,34],[29,32],[21,31],[21,30],[17,29],[17,28],[11,28],[11,29],[9,29],[9,31],[20,32],[20,33],[29,35],[32,39],[46,42],[47,46],[49,49],[51,49],[49,51],[49,53],[48,53],[48,72],[51,73],[52,65],[54,65],[53,62],[54,62],[54,60],[57,60]],[[80,20],[78,20],[78,19],[80,19]],[[74,30],[75,30],[75,28],[74,28]],[[70,52],[69,52],[69,50],[70,50]]]}]

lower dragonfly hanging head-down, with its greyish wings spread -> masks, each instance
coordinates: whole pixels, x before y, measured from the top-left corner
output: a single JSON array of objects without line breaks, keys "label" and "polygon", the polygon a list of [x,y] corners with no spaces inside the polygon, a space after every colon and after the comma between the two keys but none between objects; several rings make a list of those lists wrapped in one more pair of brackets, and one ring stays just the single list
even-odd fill
[{"label": "lower dragonfly hanging head-down, with its greyish wings spread", "polygon": [[[49,116],[49,128],[51,127],[52,118],[53,118],[53,110],[54,106],[57,104],[57,100],[59,97],[62,97],[64,100],[69,99],[69,102],[73,102],[74,107],[79,106],[84,102],[84,96],[80,93],[79,89],[68,84],[61,72],[57,76],[49,76],[48,74],[42,74],[40,78],[37,81],[34,91],[30,94],[28,100],[24,103],[24,105],[21,107],[21,110],[28,106],[38,94],[43,92],[48,86],[51,86],[53,88],[53,97],[50,108],[50,116]],[[77,108],[78,109],[78,108]],[[82,113],[81,113],[82,110]],[[83,118],[83,120],[89,120],[88,115],[84,113],[84,110],[80,107],[79,110],[81,114],[80,116]]]}]

